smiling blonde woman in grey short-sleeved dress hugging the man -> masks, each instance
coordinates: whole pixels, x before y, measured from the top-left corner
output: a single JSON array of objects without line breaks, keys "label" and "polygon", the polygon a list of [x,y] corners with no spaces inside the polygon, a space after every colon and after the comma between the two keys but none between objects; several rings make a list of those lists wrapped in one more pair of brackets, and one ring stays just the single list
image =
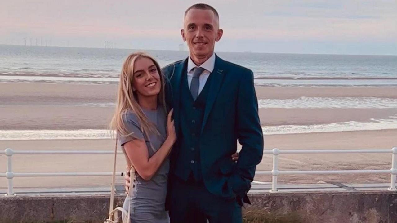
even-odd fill
[{"label": "smiling blonde woman in grey short-sleeved dress hugging the man", "polygon": [[129,55],[122,67],[111,127],[118,133],[127,165],[135,168],[133,188],[123,205],[131,206],[131,222],[169,222],[164,205],[168,154],[176,140],[171,115],[172,111],[167,117],[158,63],[144,53]]}]

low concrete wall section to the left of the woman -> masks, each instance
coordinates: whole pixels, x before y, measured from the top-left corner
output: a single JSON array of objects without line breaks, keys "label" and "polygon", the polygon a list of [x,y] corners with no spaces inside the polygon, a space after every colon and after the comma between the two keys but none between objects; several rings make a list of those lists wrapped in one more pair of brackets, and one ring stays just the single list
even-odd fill
[{"label": "low concrete wall section to the left of the woman", "polygon": [[[123,199],[116,196],[115,204],[122,206]],[[103,223],[108,217],[109,200],[110,195],[0,198],[0,223]]]}]

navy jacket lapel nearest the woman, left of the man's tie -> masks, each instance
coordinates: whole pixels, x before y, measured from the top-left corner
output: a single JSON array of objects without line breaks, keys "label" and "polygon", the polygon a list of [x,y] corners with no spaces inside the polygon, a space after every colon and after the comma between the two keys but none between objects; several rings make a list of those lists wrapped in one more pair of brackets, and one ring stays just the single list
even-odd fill
[{"label": "navy jacket lapel nearest the woman, left of the man's tie", "polygon": [[[175,132],[178,133],[179,131],[179,122],[180,122],[180,99],[179,96],[181,94],[181,77],[183,72],[185,71],[184,68],[187,65],[187,59],[175,65],[175,70],[173,71],[172,76],[172,90],[173,90],[173,117],[175,120]],[[186,69],[186,68],[185,68]]]}]

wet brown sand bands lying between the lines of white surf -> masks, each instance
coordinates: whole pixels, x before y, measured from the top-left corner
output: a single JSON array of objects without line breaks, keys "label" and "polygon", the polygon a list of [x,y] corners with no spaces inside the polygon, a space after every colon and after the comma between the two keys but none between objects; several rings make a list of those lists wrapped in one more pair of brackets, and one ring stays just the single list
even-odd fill
[{"label": "wet brown sand bands lying between the lines of white surf", "polygon": [[[0,129],[107,129],[114,112],[111,103],[115,101],[116,90],[116,85],[0,83]],[[258,99],[302,96],[397,98],[397,90],[393,88],[256,87],[256,93]],[[259,109],[264,126],[368,121],[396,113],[396,109],[376,108]]]}]

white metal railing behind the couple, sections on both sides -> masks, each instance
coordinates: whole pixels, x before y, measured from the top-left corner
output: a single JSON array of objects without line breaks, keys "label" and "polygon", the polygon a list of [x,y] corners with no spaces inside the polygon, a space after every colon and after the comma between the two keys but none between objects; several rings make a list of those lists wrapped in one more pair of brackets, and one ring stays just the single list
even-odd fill
[{"label": "white metal railing behind the couple, sections on both sides", "polygon": [[[256,171],[256,174],[272,175],[271,193],[278,192],[277,179],[282,174],[345,174],[345,173],[389,173],[391,174],[389,191],[397,191],[396,175],[397,175],[397,147],[391,150],[264,150],[264,154],[273,154],[273,169],[272,171]],[[278,156],[279,154],[344,154],[344,153],[391,153],[391,169],[364,169],[364,170],[278,170]],[[8,191],[6,196],[15,196],[13,193],[13,178],[14,177],[65,177],[65,176],[111,176],[112,173],[14,173],[12,171],[12,156],[14,154],[114,154],[114,151],[100,151],[100,150],[12,150],[7,148],[0,151],[0,154],[7,156],[7,172],[0,173],[0,177],[8,179]],[[118,154],[122,154],[118,151]],[[121,173],[116,173],[121,175]]]}]

